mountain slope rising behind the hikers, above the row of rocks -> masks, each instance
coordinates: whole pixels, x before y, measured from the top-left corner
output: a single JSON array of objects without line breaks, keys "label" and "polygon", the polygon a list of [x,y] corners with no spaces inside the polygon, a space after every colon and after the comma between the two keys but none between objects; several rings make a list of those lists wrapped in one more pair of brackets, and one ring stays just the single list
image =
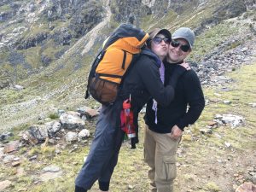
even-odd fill
[{"label": "mountain slope rising behind the hikers, above the row of rocks", "polygon": [[[225,9],[221,8],[221,1],[170,3],[163,0],[161,3],[166,3],[166,9],[159,7],[160,3],[155,1],[135,1],[132,4],[125,4],[125,1],[103,2],[102,7],[100,2],[95,1],[70,3],[66,0],[41,0],[36,3],[26,1],[24,4],[20,1],[3,1],[0,7],[0,65],[3,71],[1,79],[6,88],[1,90],[0,96],[3,117],[0,129],[11,129],[36,120],[39,116],[48,116],[58,108],[95,105],[95,102],[84,101],[83,98],[87,71],[103,40],[120,21],[133,18],[137,25],[147,31],[156,26],[166,27],[172,32],[179,26],[193,28],[197,39],[190,61],[197,63],[195,70],[201,76],[201,81],[206,80],[204,77],[209,81],[216,69],[226,66],[220,63],[224,67],[219,67],[212,63],[214,55],[224,57],[227,53],[229,57],[232,49],[238,49],[242,53],[242,47],[252,47],[255,42],[255,14],[252,10],[255,3],[250,1],[226,1]],[[17,15],[12,17],[12,14],[8,14],[13,13],[12,11],[16,11]],[[88,18],[91,11],[101,14]],[[90,27],[84,28],[83,20],[92,20]],[[74,28],[73,23],[77,23],[80,30]],[[82,32],[82,29],[85,31]],[[20,31],[16,32],[17,30]],[[15,32],[22,34],[17,35],[19,41],[15,40]],[[8,34],[12,38],[6,38]],[[44,34],[47,34],[45,39]],[[8,43],[6,39],[9,39]],[[248,57],[253,55],[251,49],[247,49],[247,52]],[[49,63],[44,66],[44,61]],[[232,66],[233,64],[230,65]],[[9,89],[9,84],[17,83],[25,89]]]}]

